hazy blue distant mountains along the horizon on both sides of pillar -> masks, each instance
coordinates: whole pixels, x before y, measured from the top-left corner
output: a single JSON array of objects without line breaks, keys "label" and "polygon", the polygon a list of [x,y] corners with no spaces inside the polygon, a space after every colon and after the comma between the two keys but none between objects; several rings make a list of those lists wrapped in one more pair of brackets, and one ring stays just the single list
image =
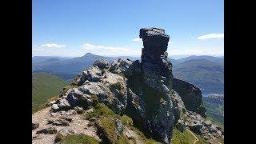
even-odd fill
[{"label": "hazy blue distant mountains along the horizon on both sides of pillar", "polygon": [[[81,73],[85,67],[92,66],[97,59],[107,59],[109,62],[115,58],[129,58],[140,60],[137,57],[120,56],[104,57],[87,53],[78,58],[61,57],[32,57],[32,70],[45,71],[70,80]],[[224,57],[189,56],[180,59],[171,59],[174,68],[174,77],[191,82],[198,86],[203,94],[223,93],[224,86]]]}]

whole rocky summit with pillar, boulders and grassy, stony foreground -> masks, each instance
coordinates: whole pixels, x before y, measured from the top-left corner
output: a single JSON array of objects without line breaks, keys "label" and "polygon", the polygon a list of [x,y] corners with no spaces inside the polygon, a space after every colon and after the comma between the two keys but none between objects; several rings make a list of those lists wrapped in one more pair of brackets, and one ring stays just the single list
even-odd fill
[{"label": "whole rocky summit with pillar, boulders and grassy, stony foreground", "polygon": [[[208,141],[223,138],[222,128],[205,119],[201,90],[174,78],[166,52],[170,37],[165,30],[142,28],[139,35],[144,46],[141,62],[121,58],[111,63],[95,61],[94,66],[83,70],[57,99],[48,103],[47,117],[52,119],[47,125],[52,127],[45,128],[47,125],[33,118],[38,122],[32,125],[34,133],[57,133],[55,142],[62,141],[66,134],[76,134],[71,126],[103,143],[129,143],[130,139],[149,143],[147,138],[153,138],[167,144],[174,129],[191,130]],[[84,114],[84,118],[75,111]],[[47,115],[46,111],[43,114]],[[90,132],[79,128],[86,122]],[[40,141],[37,135],[34,137],[34,141]]]}]

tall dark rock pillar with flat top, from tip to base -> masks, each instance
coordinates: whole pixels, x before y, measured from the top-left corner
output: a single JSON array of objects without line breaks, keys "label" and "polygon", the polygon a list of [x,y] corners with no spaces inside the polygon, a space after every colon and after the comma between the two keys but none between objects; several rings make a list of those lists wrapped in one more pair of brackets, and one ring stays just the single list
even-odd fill
[{"label": "tall dark rock pillar with flat top, from tip to base", "polygon": [[174,104],[170,98],[172,65],[167,61],[169,35],[158,28],[142,28],[142,93],[146,102],[145,129],[160,142],[169,143],[174,126]]}]

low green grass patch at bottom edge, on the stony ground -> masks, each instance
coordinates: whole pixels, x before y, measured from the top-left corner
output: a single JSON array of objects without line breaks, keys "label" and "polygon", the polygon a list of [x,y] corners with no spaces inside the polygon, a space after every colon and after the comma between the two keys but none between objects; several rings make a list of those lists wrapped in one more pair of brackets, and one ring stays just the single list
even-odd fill
[{"label": "low green grass patch at bottom edge, on the stony ground", "polygon": [[88,135],[85,134],[68,134],[66,137],[62,138],[59,144],[98,144],[99,142]]}]

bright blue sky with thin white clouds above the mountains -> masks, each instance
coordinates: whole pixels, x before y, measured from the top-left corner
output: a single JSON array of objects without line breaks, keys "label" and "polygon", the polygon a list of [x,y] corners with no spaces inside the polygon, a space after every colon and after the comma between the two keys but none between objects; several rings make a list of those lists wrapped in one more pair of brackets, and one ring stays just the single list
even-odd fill
[{"label": "bright blue sky with thin white clouds above the mountains", "polygon": [[170,55],[224,54],[223,0],[33,0],[32,56],[141,54],[142,27],[170,35]]}]

